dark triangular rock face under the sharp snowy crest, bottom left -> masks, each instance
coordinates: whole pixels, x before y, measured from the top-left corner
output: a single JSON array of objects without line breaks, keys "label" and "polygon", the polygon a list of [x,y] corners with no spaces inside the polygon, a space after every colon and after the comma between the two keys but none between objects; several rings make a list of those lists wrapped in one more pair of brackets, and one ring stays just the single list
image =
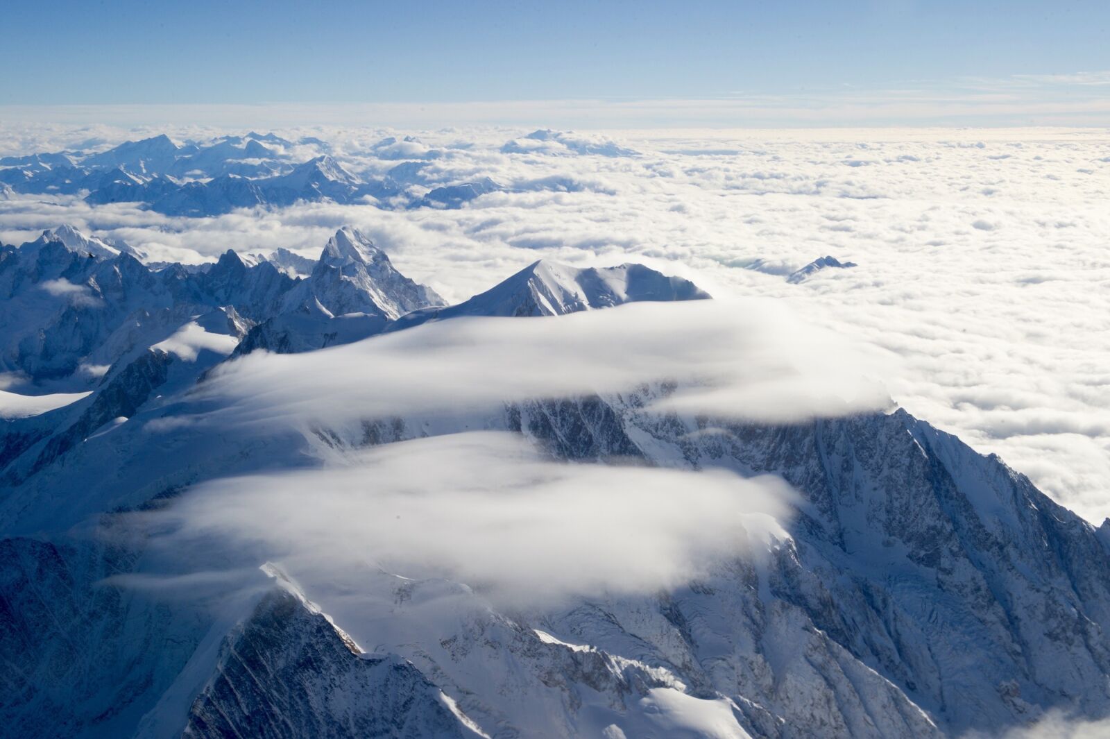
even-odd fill
[{"label": "dark triangular rock face under the sharp snowy crest, bottom left", "polygon": [[259,603],[221,647],[216,674],[183,737],[482,736],[411,662],[364,655],[295,591]]}]

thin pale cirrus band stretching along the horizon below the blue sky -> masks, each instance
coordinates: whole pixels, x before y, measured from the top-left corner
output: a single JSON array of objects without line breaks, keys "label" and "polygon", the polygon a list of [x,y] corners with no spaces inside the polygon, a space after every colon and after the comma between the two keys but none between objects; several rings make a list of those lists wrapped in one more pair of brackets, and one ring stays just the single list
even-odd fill
[{"label": "thin pale cirrus band stretching along the horizon below the blue sky", "polygon": [[82,129],[137,123],[258,128],[337,125],[437,128],[545,125],[591,128],[845,125],[1107,125],[1107,70],[906,80],[886,85],[723,90],[692,99],[539,99],[465,102],[274,104],[4,105],[3,119],[32,129],[47,121]]}]

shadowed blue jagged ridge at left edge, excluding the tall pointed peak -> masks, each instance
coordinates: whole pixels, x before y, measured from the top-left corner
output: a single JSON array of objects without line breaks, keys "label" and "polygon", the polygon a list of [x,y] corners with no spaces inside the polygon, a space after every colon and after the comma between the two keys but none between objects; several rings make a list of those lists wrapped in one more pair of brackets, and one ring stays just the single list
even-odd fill
[{"label": "shadowed blue jagged ridge at left edge, excluding the tall pointed peak", "polygon": [[208,275],[151,271],[128,251],[63,226],[0,255],[0,368],[31,382],[89,385],[103,368],[168,338],[214,308],[248,316],[293,281],[272,265],[243,270],[233,287],[225,262]]}]

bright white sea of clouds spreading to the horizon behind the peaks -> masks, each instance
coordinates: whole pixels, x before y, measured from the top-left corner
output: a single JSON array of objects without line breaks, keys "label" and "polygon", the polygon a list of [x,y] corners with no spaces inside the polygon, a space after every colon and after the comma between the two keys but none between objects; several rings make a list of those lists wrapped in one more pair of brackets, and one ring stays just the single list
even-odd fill
[{"label": "bright white sea of clouds spreading to the horizon behind the peaks", "polygon": [[[199,128],[3,126],[0,154],[107,148]],[[443,152],[426,185],[490,176],[517,192],[455,211],[310,203],[210,219],[79,198],[0,200],[0,240],[72,223],[151,259],[199,262],[226,249],[315,256],[344,224],[372,235],[448,300],[536,259],[644,262],[718,297],[774,298],[803,324],[885,354],[890,396],[996,452],[1089,519],[1110,515],[1110,134],[1098,130],[609,131],[635,156],[558,148],[503,153],[527,129],[415,132],[374,150],[375,129],[319,136],[360,174]],[[551,190],[562,183],[566,192]],[[541,185],[547,189],[539,189]],[[830,254],[858,266],[800,284]],[[789,336],[787,336],[789,338]],[[805,335],[796,341],[807,342]]]}]

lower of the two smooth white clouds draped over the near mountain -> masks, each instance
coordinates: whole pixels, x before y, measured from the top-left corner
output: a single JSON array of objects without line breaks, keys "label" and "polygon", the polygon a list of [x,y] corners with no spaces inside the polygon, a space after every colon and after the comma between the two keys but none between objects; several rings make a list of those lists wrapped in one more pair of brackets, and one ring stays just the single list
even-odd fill
[{"label": "lower of the two smooth white clouds draped over the near mountain", "polygon": [[205,483],[144,516],[178,558],[196,547],[229,568],[274,560],[340,590],[375,569],[445,577],[536,606],[650,593],[761,556],[788,539],[776,519],[793,495],[720,470],[555,463],[516,435],[471,432]]}]

